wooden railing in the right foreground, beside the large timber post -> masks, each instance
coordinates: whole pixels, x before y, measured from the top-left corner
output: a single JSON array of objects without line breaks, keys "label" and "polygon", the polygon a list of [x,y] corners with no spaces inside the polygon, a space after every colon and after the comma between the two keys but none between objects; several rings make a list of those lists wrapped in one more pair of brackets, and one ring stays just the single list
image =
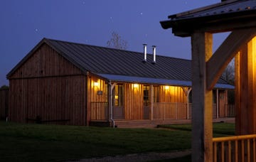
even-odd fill
[{"label": "wooden railing in the right foreground, beside the large timber post", "polygon": [[213,161],[256,161],[256,134],[213,138]]}]

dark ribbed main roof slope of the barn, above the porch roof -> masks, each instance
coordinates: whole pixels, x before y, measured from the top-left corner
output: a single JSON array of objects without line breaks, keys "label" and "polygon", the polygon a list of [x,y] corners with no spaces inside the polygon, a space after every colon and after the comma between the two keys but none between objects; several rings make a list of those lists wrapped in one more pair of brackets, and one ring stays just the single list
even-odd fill
[{"label": "dark ribbed main roof slope of the barn, above the porch roof", "polygon": [[82,67],[82,70],[89,72],[171,80],[191,80],[191,60],[156,55],[156,63],[152,64],[153,55],[148,54],[148,61],[143,63],[144,53],[64,41],[48,41],[55,48],[63,51],[64,55],[69,60],[73,60],[72,62],[78,67]]}]

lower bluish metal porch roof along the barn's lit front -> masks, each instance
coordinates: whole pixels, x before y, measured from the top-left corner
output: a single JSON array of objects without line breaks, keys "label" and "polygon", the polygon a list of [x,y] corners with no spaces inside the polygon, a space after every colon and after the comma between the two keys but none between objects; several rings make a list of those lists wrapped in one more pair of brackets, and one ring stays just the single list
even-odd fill
[{"label": "lower bluish metal porch roof along the barn's lit front", "polygon": [[[153,84],[153,85],[176,85],[182,87],[191,87],[191,81],[184,80],[166,80],[166,79],[158,79],[158,78],[150,78],[150,77],[134,77],[127,75],[110,75],[110,74],[95,74],[100,77],[103,77],[110,81],[115,82],[134,82],[134,83],[145,83],[145,84]],[[225,85],[225,84],[216,84],[215,88],[219,89],[234,89],[233,85]]]}]

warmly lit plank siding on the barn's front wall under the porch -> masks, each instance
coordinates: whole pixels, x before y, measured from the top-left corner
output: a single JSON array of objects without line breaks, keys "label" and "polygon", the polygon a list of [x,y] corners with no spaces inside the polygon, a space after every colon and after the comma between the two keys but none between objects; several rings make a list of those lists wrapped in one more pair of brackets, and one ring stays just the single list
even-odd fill
[{"label": "warmly lit plank siding on the barn's front wall under the porch", "polygon": [[[95,82],[97,82],[97,86],[95,86]],[[124,85],[124,119],[144,119],[144,86],[149,85],[128,82],[112,82],[112,84]],[[137,85],[137,87],[134,85]],[[89,87],[88,101],[90,102],[90,108],[88,109],[90,111],[90,117],[88,119],[105,119],[107,117],[105,113],[108,113],[105,110],[106,102],[108,101],[107,82],[95,76],[90,76],[87,86]],[[168,86],[168,90],[164,85],[154,85],[154,87],[159,87],[159,102],[186,103],[187,101],[186,93],[182,87]],[[184,89],[187,90],[188,88],[185,87]],[[100,91],[100,95],[98,91]],[[151,96],[151,90],[149,90],[149,96]],[[149,97],[149,102],[153,104],[151,97]],[[184,110],[182,109],[182,111]],[[185,112],[181,113],[186,114]],[[151,117],[151,114],[149,114],[149,117]]]}]

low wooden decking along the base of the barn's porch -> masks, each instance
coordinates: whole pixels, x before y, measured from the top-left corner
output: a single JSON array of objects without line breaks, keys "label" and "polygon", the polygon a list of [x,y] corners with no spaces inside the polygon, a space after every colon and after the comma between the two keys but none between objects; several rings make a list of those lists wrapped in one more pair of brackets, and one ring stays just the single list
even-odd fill
[{"label": "low wooden decking along the base of the barn's porch", "polygon": [[[213,122],[234,123],[235,118],[213,119]],[[117,128],[154,128],[161,124],[189,124],[191,119],[166,119],[166,120],[117,120],[114,125]]]}]

